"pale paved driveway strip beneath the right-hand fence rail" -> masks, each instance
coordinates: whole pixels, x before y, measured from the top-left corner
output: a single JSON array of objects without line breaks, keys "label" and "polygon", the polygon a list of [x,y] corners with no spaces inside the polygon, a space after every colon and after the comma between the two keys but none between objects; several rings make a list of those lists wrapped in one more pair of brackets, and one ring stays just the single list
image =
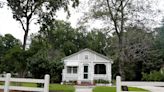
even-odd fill
[{"label": "pale paved driveway strip beneath the right-hand fence rail", "polygon": [[164,92],[164,87],[152,87],[152,86],[136,86],[136,87],[150,90],[150,92]]}]

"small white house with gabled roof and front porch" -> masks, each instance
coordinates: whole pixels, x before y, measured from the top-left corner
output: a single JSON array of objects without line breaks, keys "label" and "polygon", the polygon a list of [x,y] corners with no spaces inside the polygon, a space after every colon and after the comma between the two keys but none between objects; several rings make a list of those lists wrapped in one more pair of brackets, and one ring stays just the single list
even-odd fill
[{"label": "small white house with gabled roof and front porch", "polygon": [[64,69],[62,81],[77,81],[93,83],[94,80],[107,80],[111,82],[111,67],[113,61],[90,49],[83,49],[62,59]]}]

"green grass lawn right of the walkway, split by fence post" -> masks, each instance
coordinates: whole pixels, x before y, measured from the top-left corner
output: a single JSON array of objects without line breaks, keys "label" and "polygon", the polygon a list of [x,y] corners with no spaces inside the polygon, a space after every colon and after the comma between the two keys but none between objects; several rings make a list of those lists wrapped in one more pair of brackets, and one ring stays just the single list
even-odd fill
[{"label": "green grass lawn right of the walkway, split by fence post", "polygon": [[[145,91],[147,90],[135,87],[128,87],[129,91]],[[93,89],[93,92],[116,92],[116,87],[105,87],[105,86],[98,86]]]}]

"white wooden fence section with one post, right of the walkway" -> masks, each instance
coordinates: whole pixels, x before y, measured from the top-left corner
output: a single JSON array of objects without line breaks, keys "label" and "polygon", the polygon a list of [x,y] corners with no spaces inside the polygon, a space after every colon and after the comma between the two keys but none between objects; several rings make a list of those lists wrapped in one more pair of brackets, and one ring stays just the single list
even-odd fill
[{"label": "white wooden fence section with one post, right of the walkway", "polygon": [[[122,85],[124,85],[124,86],[164,86],[164,82],[121,81],[121,77],[117,76],[116,77],[116,92],[122,92],[121,91]],[[125,92],[127,92],[127,91],[125,91]],[[135,91],[135,92],[139,92],[139,91]],[[142,91],[142,92],[144,92],[144,91]]]}]

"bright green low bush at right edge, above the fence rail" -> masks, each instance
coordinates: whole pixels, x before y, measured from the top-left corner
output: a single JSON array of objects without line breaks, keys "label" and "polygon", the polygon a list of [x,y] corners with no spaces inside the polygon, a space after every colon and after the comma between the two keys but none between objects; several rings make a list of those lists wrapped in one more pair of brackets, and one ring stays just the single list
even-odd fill
[{"label": "bright green low bush at right edge, above the fence rail", "polygon": [[148,73],[143,73],[142,80],[145,81],[164,81],[163,71],[151,71]]}]

